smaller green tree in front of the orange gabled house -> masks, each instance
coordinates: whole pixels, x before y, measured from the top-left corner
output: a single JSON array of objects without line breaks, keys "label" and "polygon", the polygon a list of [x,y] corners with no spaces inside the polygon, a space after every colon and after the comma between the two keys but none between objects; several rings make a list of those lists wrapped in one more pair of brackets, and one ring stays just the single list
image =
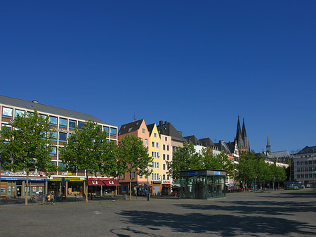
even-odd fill
[{"label": "smaller green tree in front of the orange gabled house", "polygon": [[129,200],[131,200],[132,172],[140,175],[150,175],[153,158],[148,155],[148,148],[144,146],[142,139],[133,134],[127,134],[119,141],[117,154],[117,174],[122,175],[129,172]]}]

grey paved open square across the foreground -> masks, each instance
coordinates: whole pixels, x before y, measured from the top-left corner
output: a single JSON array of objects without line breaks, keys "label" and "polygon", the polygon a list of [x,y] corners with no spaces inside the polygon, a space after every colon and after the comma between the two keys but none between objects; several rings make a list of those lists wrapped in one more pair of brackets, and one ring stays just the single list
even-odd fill
[{"label": "grey paved open square across the foreground", "polygon": [[316,190],[0,205],[0,236],[316,236]]}]

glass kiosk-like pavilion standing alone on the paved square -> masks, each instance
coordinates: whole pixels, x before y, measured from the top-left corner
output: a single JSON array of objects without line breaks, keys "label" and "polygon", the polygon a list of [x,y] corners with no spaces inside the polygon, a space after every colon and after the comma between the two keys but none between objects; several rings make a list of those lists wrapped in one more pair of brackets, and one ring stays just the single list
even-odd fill
[{"label": "glass kiosk-like pavilion standing alone on the paved square", "polygon": [[223,198],[225,192],[224,170],[199,169],[180,172],[180,198]]}]

